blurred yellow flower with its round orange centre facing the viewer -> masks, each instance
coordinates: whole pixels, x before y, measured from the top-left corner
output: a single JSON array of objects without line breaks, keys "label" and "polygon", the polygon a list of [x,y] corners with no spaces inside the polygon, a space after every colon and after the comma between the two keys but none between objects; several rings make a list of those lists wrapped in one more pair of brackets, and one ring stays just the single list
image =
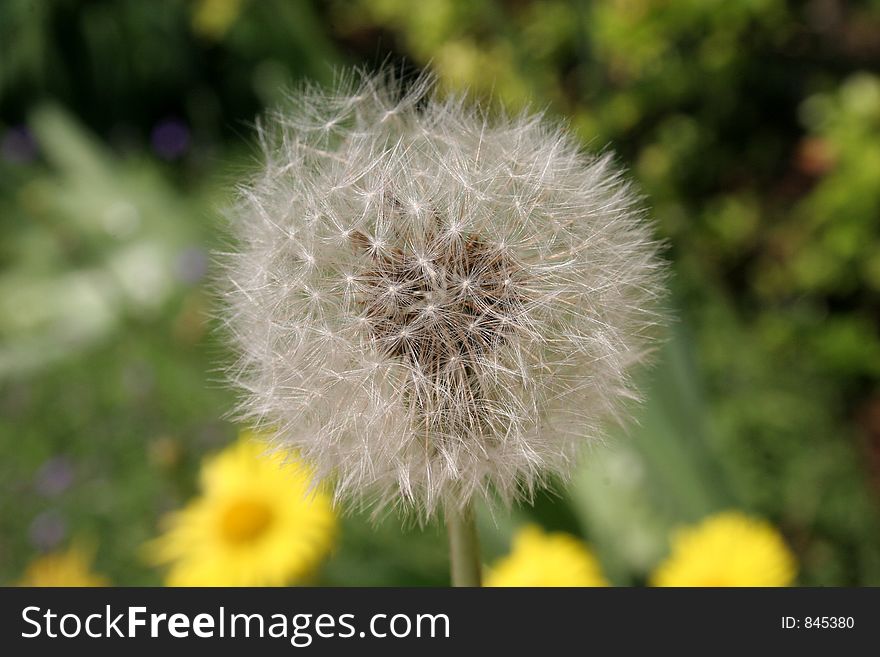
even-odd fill
[{"label": "blurred yellow flower with its round orange centre facing the viewer", "polygon": [[310,474],[245,433],[203,464],[202,495],[166,519],[151,560],[170,565],[169,586],[302,583],[336,534],[330,498],[311,489]]}]

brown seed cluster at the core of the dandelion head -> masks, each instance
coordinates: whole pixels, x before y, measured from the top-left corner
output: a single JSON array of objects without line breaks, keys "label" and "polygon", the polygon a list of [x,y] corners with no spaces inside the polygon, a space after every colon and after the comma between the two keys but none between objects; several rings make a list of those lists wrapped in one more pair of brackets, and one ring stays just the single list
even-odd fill
[{"label": "brown seed cluster at the core of the dandelion head", "polygon": [[353,235],[372,256],[355,299],[379,350],[409,370],[420,430],[472,433],[491,404],[482,364],[525,328],[524,271],[503,246],[440,228],[381,249]]}]

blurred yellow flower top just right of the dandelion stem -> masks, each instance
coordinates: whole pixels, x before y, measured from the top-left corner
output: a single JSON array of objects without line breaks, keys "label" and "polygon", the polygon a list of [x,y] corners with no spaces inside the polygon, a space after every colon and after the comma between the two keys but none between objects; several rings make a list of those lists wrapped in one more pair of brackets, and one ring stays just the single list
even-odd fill
[{"label": "blurred yellow flower top just right of the dandelion stem", "polygon": [[527,525],[514,537],[511,553],[489,570],[485,585],[608,586],[608,581],[583,542]]}]

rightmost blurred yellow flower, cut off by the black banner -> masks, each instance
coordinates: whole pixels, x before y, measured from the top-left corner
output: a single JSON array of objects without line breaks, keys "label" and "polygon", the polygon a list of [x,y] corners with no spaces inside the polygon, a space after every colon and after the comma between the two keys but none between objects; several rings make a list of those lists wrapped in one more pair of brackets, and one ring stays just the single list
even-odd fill
[{"label": "rightmost blurred yellow flower, cut off by the black banner", "polygon": [[651,577],[653,586],[788,586],[797,562],[770,523],[737,511],[682,529]]}]

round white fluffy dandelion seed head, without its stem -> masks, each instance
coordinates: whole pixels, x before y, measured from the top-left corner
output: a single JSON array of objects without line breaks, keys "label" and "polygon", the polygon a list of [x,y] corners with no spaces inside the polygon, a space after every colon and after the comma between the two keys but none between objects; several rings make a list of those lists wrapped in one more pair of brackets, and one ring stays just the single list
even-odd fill
[{"label": "round white fluffy dandelion seed head, without its stem", "polygon": [[620,419],[664,267],[610,156],[387,75],[260,135],[224,256],[239,415],[337,497],[527,498]]}]

